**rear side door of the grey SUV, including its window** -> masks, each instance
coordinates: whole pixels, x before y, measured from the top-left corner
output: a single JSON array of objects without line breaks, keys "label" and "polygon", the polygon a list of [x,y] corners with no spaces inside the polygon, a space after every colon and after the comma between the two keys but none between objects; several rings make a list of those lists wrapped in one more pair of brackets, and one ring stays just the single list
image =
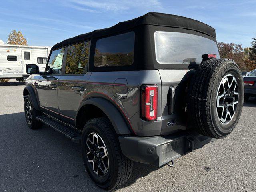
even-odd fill
[{"label": "rear side door of the grey SUV, including its window", "polygon": [[60,118],[74,125],[76,112],[83,98],[91,72],[87,72],[90,41],[66,47],[64,71],[58,82]]}]

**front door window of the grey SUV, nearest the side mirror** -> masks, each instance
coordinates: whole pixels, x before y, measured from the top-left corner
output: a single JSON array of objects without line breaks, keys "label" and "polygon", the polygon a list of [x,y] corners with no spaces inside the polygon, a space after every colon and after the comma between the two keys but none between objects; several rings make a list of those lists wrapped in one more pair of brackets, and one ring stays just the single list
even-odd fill
[{"label": "front door window of the grey SUV, nearest the side mirror", "polygon": [[64,55],[64,48],[55,50],[51,53],[48,65],[46,66],[47,74],[61,74],[61,66]]}]

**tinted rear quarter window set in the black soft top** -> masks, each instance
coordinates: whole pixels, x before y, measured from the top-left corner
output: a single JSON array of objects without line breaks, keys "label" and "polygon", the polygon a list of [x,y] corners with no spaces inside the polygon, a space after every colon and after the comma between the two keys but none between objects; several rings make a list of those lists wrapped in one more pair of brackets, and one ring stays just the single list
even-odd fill
[{"label": "tinted rear quarter window set in the black soft top", "polygon": [[134,61],[134,32],[99,39],[96,42],[94,66],[125,66]]}]

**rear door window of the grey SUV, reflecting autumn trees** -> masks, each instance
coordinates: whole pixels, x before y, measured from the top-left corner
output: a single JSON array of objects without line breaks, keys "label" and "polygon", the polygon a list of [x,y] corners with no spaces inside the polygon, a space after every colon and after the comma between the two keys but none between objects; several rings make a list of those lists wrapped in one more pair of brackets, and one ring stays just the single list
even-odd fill
[{"label": "rear door window of the grey SUV, reflecting autumn trees", "polygon": [[82,74],[89,61],[90,42],[68,46],[65,74]]}]

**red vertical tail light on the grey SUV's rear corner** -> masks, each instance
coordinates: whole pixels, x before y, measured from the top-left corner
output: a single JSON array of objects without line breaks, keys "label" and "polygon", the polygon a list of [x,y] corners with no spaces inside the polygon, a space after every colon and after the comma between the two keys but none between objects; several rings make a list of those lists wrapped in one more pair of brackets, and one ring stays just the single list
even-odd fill
[{"label": "red vertical tail light on the grey SUV's rear corner", "polygon": [[145,120],[153,121],[157,118],[157,85],[142,87],[141,116]]}]

